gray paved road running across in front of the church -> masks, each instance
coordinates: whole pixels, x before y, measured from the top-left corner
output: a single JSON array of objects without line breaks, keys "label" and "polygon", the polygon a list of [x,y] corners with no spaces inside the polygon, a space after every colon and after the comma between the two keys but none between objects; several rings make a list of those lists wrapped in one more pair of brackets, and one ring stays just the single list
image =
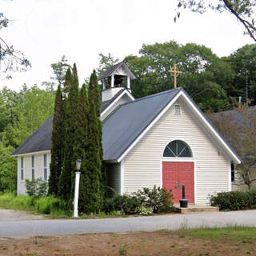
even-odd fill
[{"label": "gray paved road running across in front of the church", "polygon": [[0,222],[0,237],[124,233],[141,230],[177,230],[180,228],[230,225],[256,226],[256,210],[200,214],[168,214],[134,218]]}]

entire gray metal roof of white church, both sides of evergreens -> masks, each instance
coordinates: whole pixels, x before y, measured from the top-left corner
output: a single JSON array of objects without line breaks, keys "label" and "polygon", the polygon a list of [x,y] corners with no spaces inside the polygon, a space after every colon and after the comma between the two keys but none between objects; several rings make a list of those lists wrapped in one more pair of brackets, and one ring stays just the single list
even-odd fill
[{"label": "entire gray metal roof of white church, both sides of evergreens", "polygon": [[[134,102],[123,104],[114,110],[102,123],[103,159],[117,160],[181,90],[186,94],[186,91],[183,90],[182,87],[179,87],[178,89],[167,90],[159,94],[138,98]],[[190,98],[188,94],[186,94],[186,96]],[[202,113],[191,98],[190,101],[206,120],[210,122],[209,118]],[[103,109],[106,108],[103,107]],[[210,124],[214,128],[211,122]],[[218,130],[215,128],[214,130],[218,133]],[[52,117],[42,124],[34,134],[27,138],[26,141],[14,151],[13,155],[50,150],[51,132]],[[223,141],[226,142],[222,135],[219,135]],[[226,144],[230,146],[228,142],[226,142]],[[230,150],[239,158],[238,154],[236,154],[231,146]]]}]

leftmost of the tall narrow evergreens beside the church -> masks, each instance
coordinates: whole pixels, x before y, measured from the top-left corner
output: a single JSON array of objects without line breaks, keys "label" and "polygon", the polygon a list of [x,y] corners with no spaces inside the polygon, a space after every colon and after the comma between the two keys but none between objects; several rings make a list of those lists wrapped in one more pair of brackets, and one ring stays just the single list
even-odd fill
[{"label": "leftmost of the tall narrow evergreens beside the church", "polygon": [[50,178],[49,194],[57,196],[58,178],[62,171],[62,148],[63,148],[63,100],[61,86],[55,96],[53,131],[51,135],[51,158],[50,158]]}]

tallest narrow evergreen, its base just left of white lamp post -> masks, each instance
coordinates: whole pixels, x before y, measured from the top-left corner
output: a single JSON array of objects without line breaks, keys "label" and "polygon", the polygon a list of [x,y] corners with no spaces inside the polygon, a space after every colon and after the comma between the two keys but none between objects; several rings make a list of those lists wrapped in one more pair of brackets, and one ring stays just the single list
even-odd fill
[{"label": "tallest narrow evergreen, its base just left of white lamp post", "polygon": [[[64,136],[64,159],[62,174],[58,182],[58,196],[69,200],[72,187],[72,177],[75,170],[74,146],[77,143],[75,138],[76,112],[78,108],[78,71],[76,65],[73,67],[73,76],[70,82],[70,90],[66,98],[65,106],[65,136]],[[72,199],[72,198],[71,198]]]}]

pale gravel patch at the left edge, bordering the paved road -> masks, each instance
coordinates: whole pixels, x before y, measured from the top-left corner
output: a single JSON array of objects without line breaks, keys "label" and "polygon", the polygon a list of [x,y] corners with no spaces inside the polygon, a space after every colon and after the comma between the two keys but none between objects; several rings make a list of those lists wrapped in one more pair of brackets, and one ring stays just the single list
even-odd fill
[{"label": "pale gravel patch at the left edge, bordering the paved road", "polygon": [[0,222],[15,222],[44,219],[42,215],[34,215],[28,211],[0,209]]}]

